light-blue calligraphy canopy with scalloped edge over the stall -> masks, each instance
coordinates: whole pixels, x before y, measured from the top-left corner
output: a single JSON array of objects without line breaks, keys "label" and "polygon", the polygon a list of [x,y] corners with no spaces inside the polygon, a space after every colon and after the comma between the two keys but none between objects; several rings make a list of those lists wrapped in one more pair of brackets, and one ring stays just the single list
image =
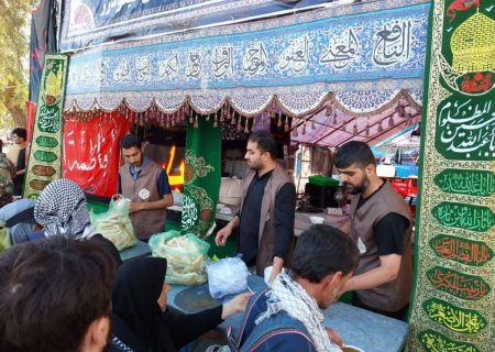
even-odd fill
[{"label": "light-blue calligraphy canopy with scalloped edge over the stall", "polygon": [[428,10],[425,0],[364,2],[85,51],[70,58],[65,110],[229,105],[304,118],[329,101],[360,117],[399,94],[419,105]]}]

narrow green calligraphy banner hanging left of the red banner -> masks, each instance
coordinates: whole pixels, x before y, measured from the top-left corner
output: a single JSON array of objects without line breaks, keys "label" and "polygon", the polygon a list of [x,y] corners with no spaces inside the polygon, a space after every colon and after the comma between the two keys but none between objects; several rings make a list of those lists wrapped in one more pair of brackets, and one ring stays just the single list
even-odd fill
[{"label": "narrow green calligraphy banner hanging left of the red banner", "polygon": [[66,55],[45,55],[24,182],[24,198],[36,199],[50,182],[62,177],[63,106],[67,65]]}]

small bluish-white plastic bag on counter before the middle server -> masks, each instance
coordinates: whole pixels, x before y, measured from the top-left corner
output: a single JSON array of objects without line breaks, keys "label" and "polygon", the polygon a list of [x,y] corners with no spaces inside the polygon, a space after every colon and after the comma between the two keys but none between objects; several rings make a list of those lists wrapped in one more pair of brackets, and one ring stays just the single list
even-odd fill
[{"label": "small bluish-white plastic bag on counter before the middle server", "polygon": [[240,257],[226,257],[207,265],[208,287],[213,298],[234,295],[248,287],[248,266]]}]

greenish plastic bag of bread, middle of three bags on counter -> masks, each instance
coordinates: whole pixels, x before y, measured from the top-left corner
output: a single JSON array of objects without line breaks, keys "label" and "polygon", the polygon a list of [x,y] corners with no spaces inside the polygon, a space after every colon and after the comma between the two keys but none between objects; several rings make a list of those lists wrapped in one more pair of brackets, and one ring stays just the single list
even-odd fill
[{"label": "greenish plastic bag of bread, middle of three bags on counter", "polygon": [[168,284],[199,285],[207,280],[205,271],[210,244],[193,233],[180,234],[170,230],[151,237],[153,256],[167,260]]}]

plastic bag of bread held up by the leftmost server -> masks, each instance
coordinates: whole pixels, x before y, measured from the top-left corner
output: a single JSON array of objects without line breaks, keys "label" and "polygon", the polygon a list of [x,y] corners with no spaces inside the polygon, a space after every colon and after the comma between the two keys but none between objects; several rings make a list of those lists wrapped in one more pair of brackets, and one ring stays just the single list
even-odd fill
[{"label": "plastic bag of bread held up by the leftmost server", "polygon": [[91,223],[98,233],[110,240],[119,251],[133,246],[138,238],[132,227],[129,207],[131,200],[121,195],[113,196],[106,212],[90,212]]}]

